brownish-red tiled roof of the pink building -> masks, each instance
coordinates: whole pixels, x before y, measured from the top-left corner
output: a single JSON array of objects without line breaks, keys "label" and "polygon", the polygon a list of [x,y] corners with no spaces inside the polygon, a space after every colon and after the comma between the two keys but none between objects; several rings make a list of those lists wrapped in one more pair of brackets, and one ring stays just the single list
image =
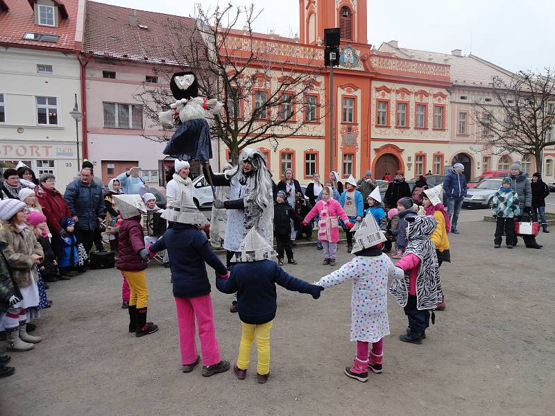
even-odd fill
[{"label": "brownish-red tiled roof of the pink building", "polygon": [[[185,66],[187,62],[178,61],[190,54],[189,39],[195,24],[190,17],[87,1],[83,51],[107,58]],[[200,35],[197,42],[203,43]]]}]

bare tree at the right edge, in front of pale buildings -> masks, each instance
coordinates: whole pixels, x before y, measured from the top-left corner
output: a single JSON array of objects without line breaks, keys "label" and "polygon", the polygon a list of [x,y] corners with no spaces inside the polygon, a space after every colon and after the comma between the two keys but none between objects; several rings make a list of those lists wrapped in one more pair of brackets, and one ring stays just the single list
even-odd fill
[{"label": "bare tree at the right edge, in front of pale buildings", "polygon": [[555,145],[555,71],[519,71],[493,78],[493,101],[475,101],[473,118],[481,128],[484,148],[532,155],[539,172],[543,149]]}]

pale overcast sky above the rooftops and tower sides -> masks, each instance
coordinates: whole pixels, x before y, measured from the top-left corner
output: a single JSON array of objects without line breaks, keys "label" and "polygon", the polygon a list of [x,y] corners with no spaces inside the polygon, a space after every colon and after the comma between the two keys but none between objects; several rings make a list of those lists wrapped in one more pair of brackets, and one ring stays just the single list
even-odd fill
[{"label": "pale overcast sky above the rooftops and tower sides", "polygon": [[[193,16],[195,0],[101,0],[173,15]],[[299,31],[298,0],[230,0],[264,9],[255,31]],[[216,0],[203,0],[203,8]],[[228,1],[220,1],[225,5]],[[242,24],[237,28],[241,28]],[[462,49],[511,71],[555,67],[555,0],[368,0],[368,42],[450,53]]]}]

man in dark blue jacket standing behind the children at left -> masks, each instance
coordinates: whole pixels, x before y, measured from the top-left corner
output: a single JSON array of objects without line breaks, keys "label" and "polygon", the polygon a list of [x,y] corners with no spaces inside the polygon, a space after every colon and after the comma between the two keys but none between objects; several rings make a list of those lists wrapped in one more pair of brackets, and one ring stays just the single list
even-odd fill
[{"label": "man in dark blue jacket standing behind the children at left", "polygon": [[103,191],[93,182],[90,168],[81,169],[80,178],[67,185],[64,200],[76,223],[77,239],[88,253],[94,243],[94,230],[105,216]]}]

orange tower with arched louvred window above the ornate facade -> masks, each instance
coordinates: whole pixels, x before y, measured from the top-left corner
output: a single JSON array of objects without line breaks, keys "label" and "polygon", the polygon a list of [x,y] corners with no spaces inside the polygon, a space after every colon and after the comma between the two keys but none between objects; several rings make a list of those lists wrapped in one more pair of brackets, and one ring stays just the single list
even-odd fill
[{"label": "orange tower with arched louvred window above the ornate facade", "polygon": [[300,43],[323,44],[324,29],[341,28],[341,43],[368,44],[367,0],[299,0]]}]

